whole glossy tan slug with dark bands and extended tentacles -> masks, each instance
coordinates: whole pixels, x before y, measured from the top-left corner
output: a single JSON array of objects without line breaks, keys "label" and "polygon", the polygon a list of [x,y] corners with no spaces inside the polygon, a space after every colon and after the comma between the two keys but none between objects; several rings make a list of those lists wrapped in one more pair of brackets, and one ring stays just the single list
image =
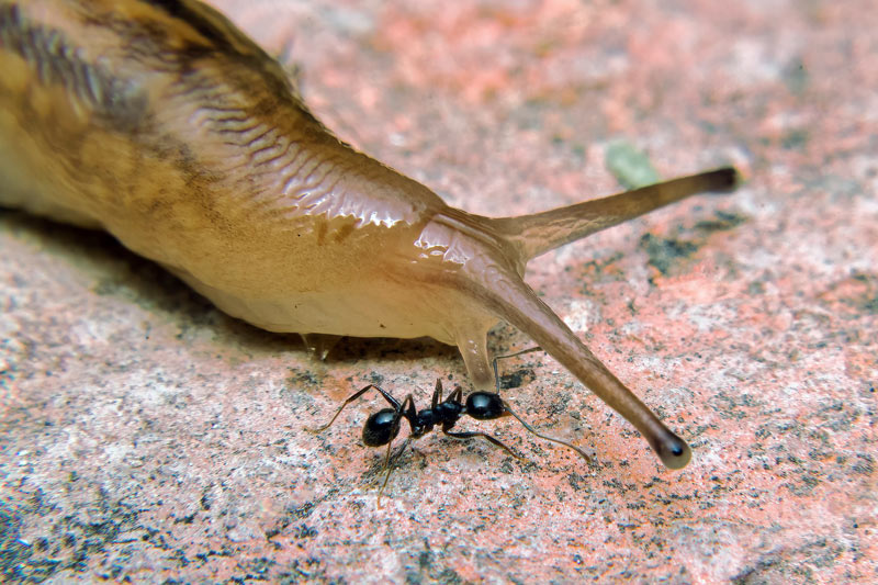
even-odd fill
[{"label": "whole glossy tan slug with dark bands and extended tentacles", "polygon": [[488,218],[339,142],[281,67],[194,0],[0,0],[0,205],[110,232],[272,331],[430,336],[493,386],[505,319],[627,418],[665,465],[686,442],[525,283],[531,258],[733,169]]}]

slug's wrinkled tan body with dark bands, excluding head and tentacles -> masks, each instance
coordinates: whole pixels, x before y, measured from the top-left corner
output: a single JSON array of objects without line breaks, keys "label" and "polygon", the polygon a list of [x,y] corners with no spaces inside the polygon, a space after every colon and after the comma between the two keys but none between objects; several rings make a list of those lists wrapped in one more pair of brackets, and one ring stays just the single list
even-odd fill
[{"label": "slug's wrinkled tan body with dark bands, excluding head and tentacles", "polygon": [[444,204],[334,138],[214,11],[0,5],[3,203],[100,226],[267,329],[453,342],[396,270]]}]

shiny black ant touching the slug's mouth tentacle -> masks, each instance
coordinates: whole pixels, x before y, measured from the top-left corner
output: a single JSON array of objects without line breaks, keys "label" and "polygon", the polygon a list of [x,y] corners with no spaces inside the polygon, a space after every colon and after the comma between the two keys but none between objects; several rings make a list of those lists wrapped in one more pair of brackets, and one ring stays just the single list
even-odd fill
[{"label": "shiny black ant touching the slug's mouth tentacle", "polygon": [[392,408],[382,408],[378,413],[372,414],[365,420],[365,425],[363,426],[363,443],[367,447],[382,447],[384,445],[387,446],[387,455],[384,459],[384,468],[387,470],[387,474],[384,476],[384,483],[381,484],[381,488],[378,492],[379,505],[381,504],[381,494],[384,492],[384,487],[387,485],[387,480],[390,480],[391,472],[393,471],[393,468],[391,466],[391,447],[393,440],[399,434],[399,427],[403,418],[408,420],[408,425],[409,427],[412,427],[412,432],[409,434],[408,437],[406,437],[405,442],[394,455],[393,458],[394,460],[398,459],[403,454],[406,447],[408,447],[409,442],[412,442],[413,439],[419,439],[424,437],[428,432],[432,431],[434,427],[440,425],[442,432],[444,432],[449,437],[459,440],[472,439],[473,437],[482,437],[489,443],[499,447],[500,449],[505,449],[513,457],[518,458],[520,460],[525,460],[524,457],[519,455],[518,453],[506,447],[498,439],[495,439],[494,437],[485,432],[479,432],[479,431],[452,432],[451,429],[454,427],[458,420],[460,420],[462,416],[466,415],[472,418],[475,418],[476,420],[494,420],[496,418],[503,418],[505,416],[513,416],[516,419],[518,419],[518,421],[521,423],[521,425],[528,431],[532,432],[537,437],[573,449],[579,455],[582,455],[586,461],[590,461],[592,458],[578,447],[562,441],[561,439],[554,439],[552,437],[547,437],[545,435],[537,432],[537,430],[534,430],[533,427],[528,425],[520,416],[518,416],[511,408],[509,408],[509,405],[506,404],[506,402],[503,398],[500,398],[499,378],[497,375],[497,361],[500,359],[514,358],[522,353],[537,351],[539,349],[540,349],[539,347],[534,347],[518,351],[517,353],[511,353],[509,356],[499,356],[497,358],[494,358],[493,362],[494,378],[496,380],[497,392],[481,392],[481,391],[473,392],[469,396],[466,396],[465,402],[461,402],[463,400],[463,389],[458,386],[451,392],[451,394],[449,394],[447,398],[442,400],[442,381],[437,379],[436,390],[432,393],[432,401],[430,403],[430,407],[418,410],[417,407],[415,406],[415,398],[412,397],[412,394],[408,394],[405,397],[405,400],[403,400],[403,402],[401,403],[399,401],[394,398],[387,391],[381,389],[380,386],[376,386],[375,384],[369,384],[368,386],[358,390],[348,400],[346,400],[341,404],[335,416],[329,420],[329,423],[317,429],[308,429],[308,430],[311,430],[311,432],[314,434],[326,430],[333,425],[333,423],[336,421],[338,415],[341,414],[341,410],[344,410],[348,404],[356,401],[370,390],[376,390],[382,396],[384,396],[384,400],[390,403]]}]

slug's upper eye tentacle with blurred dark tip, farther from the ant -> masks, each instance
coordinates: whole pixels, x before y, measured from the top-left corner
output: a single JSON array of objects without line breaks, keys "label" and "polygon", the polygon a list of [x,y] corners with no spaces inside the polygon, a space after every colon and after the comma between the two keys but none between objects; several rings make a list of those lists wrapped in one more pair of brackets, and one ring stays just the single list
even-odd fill
[{"label": "slug's upper eye tentacle with blurred dark tip, farther from the ant", "polygon": [[530,259],[689,195],[731,191],[738,181],[738,171],[724,167],[533,215],[499,217],[492,223]]}]

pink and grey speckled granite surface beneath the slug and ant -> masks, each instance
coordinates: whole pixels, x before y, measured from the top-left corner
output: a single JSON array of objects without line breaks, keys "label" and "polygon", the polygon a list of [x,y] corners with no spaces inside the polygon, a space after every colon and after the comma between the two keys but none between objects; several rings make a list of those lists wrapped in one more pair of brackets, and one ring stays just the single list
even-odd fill
[{"label": "pink and grey speckled granite surface beneath the slug and ant", "polygon": [[369,382],[423,404],[465,384],[455,350],[348,340],[320,363],[106,236],[0,212],[3,580],[878,581],[870,0],[215,4],[293,56],[344,138],[470,211],[612,192],[619,138],[665,177],[738,165],[739,192],[528,274],[695,459],[663,469],[537,353],[506,396],[597,464],[485,423],[531,461],[431,436],[379,509],[359,432],[381,401],[304,427]]}]

